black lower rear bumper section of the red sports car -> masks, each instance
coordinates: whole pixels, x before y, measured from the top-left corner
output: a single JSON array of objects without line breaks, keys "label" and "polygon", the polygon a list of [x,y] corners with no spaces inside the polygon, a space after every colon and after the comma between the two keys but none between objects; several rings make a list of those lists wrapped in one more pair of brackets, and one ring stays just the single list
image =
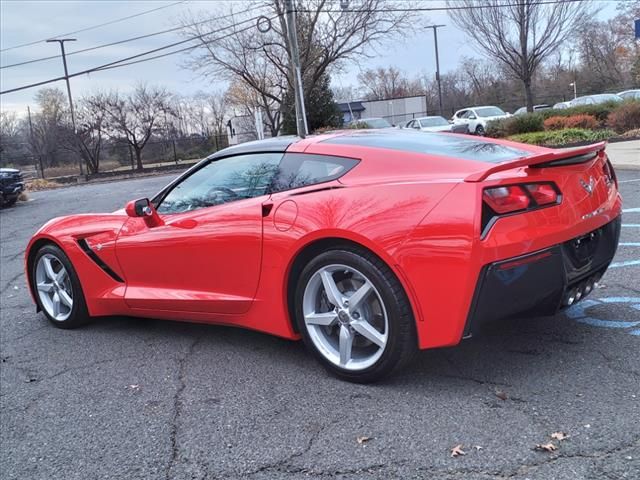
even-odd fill
[{"label": "black lower rear bumper section of the red sports car", "polygon": [[489,321],[553,315],[589,294],[613,259],[621,217],[552,247],[485,265],[464,337]]}]

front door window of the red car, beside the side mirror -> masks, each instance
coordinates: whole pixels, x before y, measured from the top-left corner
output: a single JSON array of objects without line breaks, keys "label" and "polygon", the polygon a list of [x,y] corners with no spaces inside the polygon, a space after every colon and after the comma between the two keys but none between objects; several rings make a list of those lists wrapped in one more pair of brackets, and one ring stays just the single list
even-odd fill
[{"label": "front door window of the red car, beside the side mirror", "polygon": [[159,213],[182,213],[268,193],[282,153],[253,153],[214,160],[178,183]]}]

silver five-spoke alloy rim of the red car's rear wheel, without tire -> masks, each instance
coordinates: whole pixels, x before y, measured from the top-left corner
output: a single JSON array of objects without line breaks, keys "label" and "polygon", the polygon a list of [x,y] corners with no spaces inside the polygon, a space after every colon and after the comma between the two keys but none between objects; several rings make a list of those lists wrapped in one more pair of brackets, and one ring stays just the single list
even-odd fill
[{"label": "silver five-spoke alloy rim of the red car's rear wheel, without tire", "polygon": [[311,341],[331,363],[364,370],[384,353],[389,320],[382,297],[361,272],[327,265],[309,279],[302,299]]}]

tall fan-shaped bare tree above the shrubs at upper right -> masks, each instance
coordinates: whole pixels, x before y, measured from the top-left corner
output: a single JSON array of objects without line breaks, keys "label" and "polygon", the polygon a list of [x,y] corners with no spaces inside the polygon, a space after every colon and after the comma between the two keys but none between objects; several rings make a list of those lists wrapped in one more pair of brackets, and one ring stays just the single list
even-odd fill
[{"label": "tall fan-shaped bare tree above the shrubs at upper right", "polygon": [[473,33],[472,44],[522,82],[530,112],[537,69],[592,13],[590,2],[572,0],[448,0],[447,5],[460,7],[449,15],[458,27]]}]

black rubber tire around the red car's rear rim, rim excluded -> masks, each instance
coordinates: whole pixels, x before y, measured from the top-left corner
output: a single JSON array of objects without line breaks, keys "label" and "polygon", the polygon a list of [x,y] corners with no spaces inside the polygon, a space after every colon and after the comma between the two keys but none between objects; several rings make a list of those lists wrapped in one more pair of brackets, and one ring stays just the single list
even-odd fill
[{"label": "black rubber tire around the red car's rear rim, rim excluded", "polygon": [[[303,297],[311,277],[322,267],[342,264],[362,272],[374,285],[384,303],[388,317],[388,340],[380,358],[362,370],[347,370],[332,363],[313,343],[303,314]],[[295,290],[295,320],[306,347],[333,375],[355,383],[371,383],[400,369],[417,351],[415,321],[409,299],[391,269],[378,257],[364,250],[340,247],[313,258],[302,270]]]}]

